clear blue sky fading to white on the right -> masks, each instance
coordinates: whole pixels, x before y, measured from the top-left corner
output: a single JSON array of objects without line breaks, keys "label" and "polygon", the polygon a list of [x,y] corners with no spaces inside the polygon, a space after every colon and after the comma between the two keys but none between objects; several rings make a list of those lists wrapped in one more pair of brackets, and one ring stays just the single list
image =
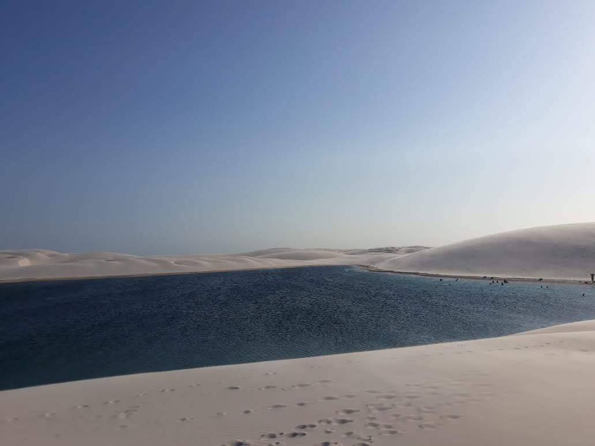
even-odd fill
[{"label": "clear blue sky fading to white on the right", "polygon": [[595,2],[4,1],[0,249],[595,220]]}]

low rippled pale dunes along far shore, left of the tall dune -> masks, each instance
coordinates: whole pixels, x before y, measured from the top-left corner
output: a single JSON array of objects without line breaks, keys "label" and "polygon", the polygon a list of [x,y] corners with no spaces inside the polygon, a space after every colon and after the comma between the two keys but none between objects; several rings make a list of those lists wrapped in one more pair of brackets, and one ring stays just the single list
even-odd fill
[{"label": "low rippled pale dunes along far shore, left of the tall dune", "polygon": [[360,265],[393,257],[386,252],[273,248],[239,255],[140,257],[110,252],[65,254],[42,249],[0,251],[0,281],[181,274],[315,265]]}]

